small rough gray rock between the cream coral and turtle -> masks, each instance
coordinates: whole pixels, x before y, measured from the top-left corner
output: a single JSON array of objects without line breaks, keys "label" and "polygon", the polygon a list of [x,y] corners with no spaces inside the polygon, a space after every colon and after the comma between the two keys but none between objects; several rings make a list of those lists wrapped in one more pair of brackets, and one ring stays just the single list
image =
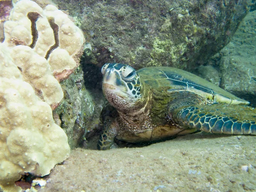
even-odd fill
[{"label": "small rough gray rock between the cream coral and turtle", "polygon": [[63,128],[70,148],[78,147],[84,133],[91,125],[94,104],[89,92],[84,88],[83,71],[78,67],[69,79],[61,82],[64,99],[53,111],[55,122]]}]

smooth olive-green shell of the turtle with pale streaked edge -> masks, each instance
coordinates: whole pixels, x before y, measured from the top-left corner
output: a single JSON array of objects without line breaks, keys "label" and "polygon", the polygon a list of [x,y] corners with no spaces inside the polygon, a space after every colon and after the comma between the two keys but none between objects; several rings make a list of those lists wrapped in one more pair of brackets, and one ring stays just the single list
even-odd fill
[{"label": "smooth olive-green shell of the turtle with pale streaked edge", "polygon": [[244,99],[221,89],[192,73],[173,67],[145,67],[137,71],[140,78],[155,89],[169,87],[168,92],[190,91],[213,103],[248,105]]}]

